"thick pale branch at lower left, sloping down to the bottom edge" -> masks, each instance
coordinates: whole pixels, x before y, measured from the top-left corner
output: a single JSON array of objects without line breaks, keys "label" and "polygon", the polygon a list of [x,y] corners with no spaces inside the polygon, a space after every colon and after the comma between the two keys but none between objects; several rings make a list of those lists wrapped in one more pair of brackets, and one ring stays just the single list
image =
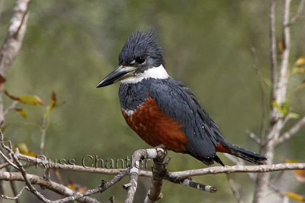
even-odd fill
[{"label": "thick pale branch at lower left, sloping down to the bottom edge", "polygon": [[[48,190],[52,190],[58,194],[64,195],[64,196],[71,196],[75,195],[77,192],[64,186],[59,183],[53,182],[53,181],[46,181],[45,179],[32,175],[32,174],[26,174],[27,178],[31,180],[32,184],[36,184],[41,186],[42,188],[46,188]],[[4,181],[22,181],[24,182],[24,178],[20,173],[16,172],[0,172],[0,180]],[[94,198],[90,197],[84,197],[81,199],[78,199],[80,202],[86,202],[86,203],[99,203]]]}]

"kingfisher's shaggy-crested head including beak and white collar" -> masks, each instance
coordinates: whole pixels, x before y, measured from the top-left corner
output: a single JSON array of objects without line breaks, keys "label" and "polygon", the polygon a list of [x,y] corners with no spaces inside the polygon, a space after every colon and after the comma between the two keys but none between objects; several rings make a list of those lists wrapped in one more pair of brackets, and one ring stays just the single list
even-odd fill
[{"label": "kingfisher's shaggy-crested head including beak and white collar", "polygon": [[97,86],[115,82],[137,83],[146,78],[168,78],[163,50],[155,39],[154,29],[132,33],[118,56],[118,66]]}]

